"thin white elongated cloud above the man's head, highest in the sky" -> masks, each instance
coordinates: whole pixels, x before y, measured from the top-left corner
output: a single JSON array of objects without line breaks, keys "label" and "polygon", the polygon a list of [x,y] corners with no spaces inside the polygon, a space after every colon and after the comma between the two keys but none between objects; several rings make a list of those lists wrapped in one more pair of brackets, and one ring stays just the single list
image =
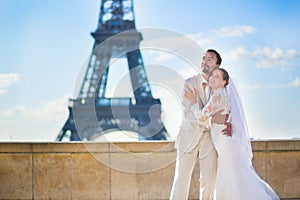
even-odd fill
[{"label": "thin white elongated cloud above the man's head, highest in the sky", "polygon": [[256,28],[253,26],[232,26],[232,27],[222,27],[213,32],[218,37],[244,37],[245,35],[250,35],[256,32]]}]

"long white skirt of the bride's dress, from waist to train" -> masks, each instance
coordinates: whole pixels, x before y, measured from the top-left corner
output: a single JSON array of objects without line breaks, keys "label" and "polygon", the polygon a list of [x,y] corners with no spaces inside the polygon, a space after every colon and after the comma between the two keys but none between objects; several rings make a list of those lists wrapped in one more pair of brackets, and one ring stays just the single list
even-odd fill
[{"label": "long white skirt of the bride's dress, from waist to train", "polygon": [[223,125],[212,124],[211,134],[218,152],[216,200],[279,199],[254,171],[239,149],[239,140],[222,134]]}]

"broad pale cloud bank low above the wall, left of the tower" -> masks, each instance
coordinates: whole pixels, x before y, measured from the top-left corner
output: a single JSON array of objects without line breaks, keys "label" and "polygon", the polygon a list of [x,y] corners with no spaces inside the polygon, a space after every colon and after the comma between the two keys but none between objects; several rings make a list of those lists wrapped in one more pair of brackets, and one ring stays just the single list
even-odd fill
[{"label": "broad pale cloud bank low above the wall, left of the tower", "polygon": [[[68,117],[68,97],[0,112],[0,140],[54,141]],[[3,132],[7,134],[2,135]]]}]

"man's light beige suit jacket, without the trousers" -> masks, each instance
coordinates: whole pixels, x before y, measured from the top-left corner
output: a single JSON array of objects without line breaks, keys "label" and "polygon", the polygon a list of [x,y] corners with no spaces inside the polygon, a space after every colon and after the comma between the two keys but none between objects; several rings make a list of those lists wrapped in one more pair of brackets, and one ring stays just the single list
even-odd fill
[{"label": "man's light beige suit jacket, without the trousers", "polygon": [[[207,103],[205,97],[205,91],[202,86],[203,77],[201,74],[193,76],[185,81],[185,87],[195,88],[197,90],[197,104],[202,110]],[[185,88],[184,87],[184,88]],[[180,152],[188,153],[192,151],[203,134],[204,131],[208,131],[208,121],[200,122],[198,118],[192,113],[189,100],[182,98],[183,104],[183,120],[179,129],[179,133],[175,138],[175,148]]]}]

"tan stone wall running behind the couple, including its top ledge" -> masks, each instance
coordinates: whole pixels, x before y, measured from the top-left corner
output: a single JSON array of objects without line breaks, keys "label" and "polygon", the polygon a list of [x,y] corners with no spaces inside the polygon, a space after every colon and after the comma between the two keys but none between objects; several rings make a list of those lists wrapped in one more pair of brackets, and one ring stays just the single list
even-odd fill
[{"label": "tan stone wall running behind the couple, including its top ledge", "polygon": [[[300,140],[252,147],[258,174],[282,199],[300,199]],[[168,199],[175,157],[173,142],[0,143],[0,199]]]}]

